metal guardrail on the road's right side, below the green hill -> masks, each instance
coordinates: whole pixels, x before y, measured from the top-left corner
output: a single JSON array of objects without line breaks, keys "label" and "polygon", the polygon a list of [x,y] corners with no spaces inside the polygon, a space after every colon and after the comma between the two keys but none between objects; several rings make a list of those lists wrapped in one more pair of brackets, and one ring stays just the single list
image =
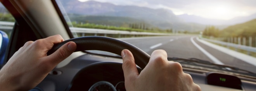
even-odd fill
[{"label": "metal guardrail on the road's right side, below the green hill", "polygon": [[245,45],[238,45],[238,44],[234,44],[234,43],[227,43],[227,42],[223,42],[223,41],[206,39],[206,38],[201,38],[201,39],[204,39],[204,40],[209,41],[209,42],[217,43],[217,44],[220,44],[220,45],[225,45],[225,46],[230,46],[230,47],[234,47],[234,48],[237,48],[237,49],[246,50],[247,52],[255,52],[256,53],[256,48],[255,47],[245,46]]}]

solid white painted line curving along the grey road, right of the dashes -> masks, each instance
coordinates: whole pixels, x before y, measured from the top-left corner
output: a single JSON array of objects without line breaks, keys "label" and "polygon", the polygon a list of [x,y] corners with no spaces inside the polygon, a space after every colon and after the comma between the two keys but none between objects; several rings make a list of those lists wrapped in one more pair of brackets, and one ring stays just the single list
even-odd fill
[{"label": "solid white painted line curving along the grey road, right of the dashes", "polygon": [[213,55],[211,55],[209,52],[207,52],[206,50],[204,50],[201,46],[199,46],[197,43],[195,43],[195,41],[193,40],[194,37],[191,37],[190,40],[191,42],[201,51],[203,52],[208,58],[210,58],[215,64],[220,64],[223,65],[223,63],[218,60],[216,57],[214,57]]}]

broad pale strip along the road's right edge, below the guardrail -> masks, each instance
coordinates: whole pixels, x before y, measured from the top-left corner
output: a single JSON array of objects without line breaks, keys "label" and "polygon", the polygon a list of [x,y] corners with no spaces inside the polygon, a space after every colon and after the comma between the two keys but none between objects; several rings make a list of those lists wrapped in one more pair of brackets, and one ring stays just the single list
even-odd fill
[{"label": "broad pale strip along the road's right edge, below the guardrail", "polygon": [[227,49],[225,47],[222,47],[222,46],[218,46],[218,45],[215,45],[213,43],[209,43],[208,41],[204,41],[202,39],[199,39],[197,38],[197,40],[205,45],[208,45],[216,50],[219,50],[220,52],[223,52],[223,53],[226,53],[232,57],[235,57],[235,58],[238,58],[244,62],[247,62],[251,65],[254,65],[256,66],[256,58],[255,57],[252,57],[252,56],[249,56],[249,55],[246,55],[246,54],[243,54],[243,53],[239,53],[239,52],[236,52],[234,50],[230,50],[230,49]]}]

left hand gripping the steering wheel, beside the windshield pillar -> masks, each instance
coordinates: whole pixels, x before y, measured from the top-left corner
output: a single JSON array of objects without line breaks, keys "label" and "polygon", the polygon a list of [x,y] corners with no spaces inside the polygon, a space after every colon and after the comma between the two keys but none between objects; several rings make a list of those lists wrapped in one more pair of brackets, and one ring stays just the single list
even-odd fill
[{"label": "left hand gripping the steering wheel, beside the windshield pillar", "polygon": [[0,70],[1,91],[28,91],[38,85],[47,74],[76,49],[76,43],[68,42],[56,52],[47,52],[64,39],[60,35],[28,41]]}]

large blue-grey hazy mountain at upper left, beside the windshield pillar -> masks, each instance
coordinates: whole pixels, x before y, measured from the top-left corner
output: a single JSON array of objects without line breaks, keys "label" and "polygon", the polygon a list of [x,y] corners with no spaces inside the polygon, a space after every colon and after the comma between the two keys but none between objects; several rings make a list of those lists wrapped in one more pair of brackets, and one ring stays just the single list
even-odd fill
[{"label": "large blue-grey hazy mountain at upper left, beside the windshield pillar", "polygon": [[81,15],[105,15],[117,17],[132,17],[136,19],[150,19],[152,21],[180,22],[173,12],[165,9],[150,9],[138,6],[114,5],[96,1],[79,2],[77,0],[66,0],[67,13]]}]

